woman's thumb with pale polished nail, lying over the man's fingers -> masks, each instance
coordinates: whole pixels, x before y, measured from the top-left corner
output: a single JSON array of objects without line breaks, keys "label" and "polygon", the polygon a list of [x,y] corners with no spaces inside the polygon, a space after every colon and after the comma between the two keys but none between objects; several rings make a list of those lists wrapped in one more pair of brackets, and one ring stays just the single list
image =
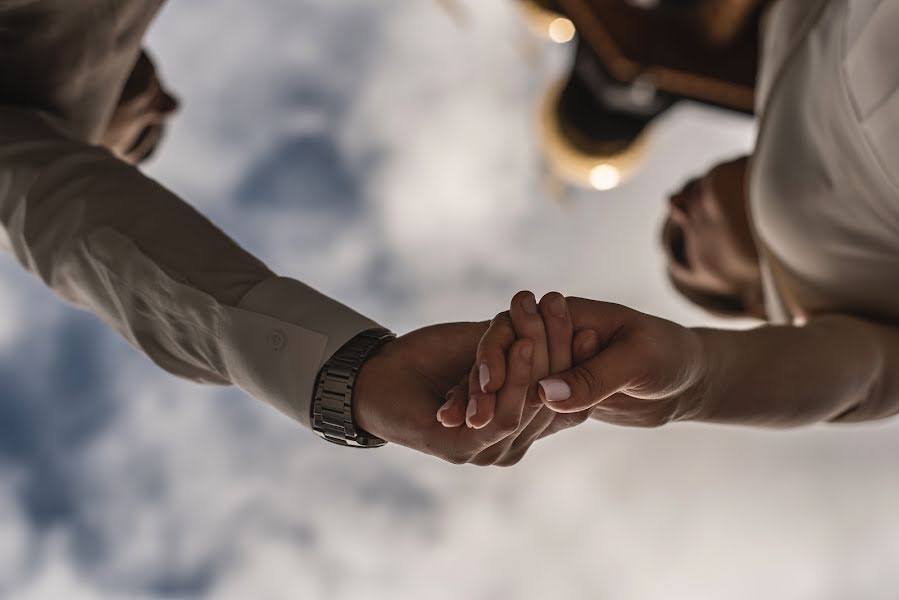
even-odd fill
[{"label": "woman's thumb with pale polished nail, lying over the man's fingers", "polygon": [[631,387],[640,362],[634,358],[627,345],[613,344],[572,369],[540,381],[540,399],[559,413],[592,408]]}]

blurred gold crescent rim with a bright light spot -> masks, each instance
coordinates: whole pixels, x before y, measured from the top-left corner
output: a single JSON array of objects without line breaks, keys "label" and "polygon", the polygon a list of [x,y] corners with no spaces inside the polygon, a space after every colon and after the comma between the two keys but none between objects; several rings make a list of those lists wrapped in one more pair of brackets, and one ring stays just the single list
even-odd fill
[{"label": "blurred gold crescent rim with a bright light spot", "polygon": [[549,169],[562,181],[587,189],[607,191],[626,183],[646,161],[651,128],[624,147],[610,148],[609,152],[586,150],[566,135],[560,123],[563,87],[564,83],[553,86],[540,107],[540,142]]}]

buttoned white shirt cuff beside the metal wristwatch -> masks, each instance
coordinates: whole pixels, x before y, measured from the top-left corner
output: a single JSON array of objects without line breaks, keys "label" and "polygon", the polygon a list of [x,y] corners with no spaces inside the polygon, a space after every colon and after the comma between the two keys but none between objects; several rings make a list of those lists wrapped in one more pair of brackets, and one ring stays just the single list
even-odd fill
[{"label": "buttoned white shirt cuff beside the metal wristwatch", "polygon": [[322,366],[350,339],[378,327],[299,281],[273,277],[238,306],[224,307],[224,361],[235,385],[311,429]]}]

